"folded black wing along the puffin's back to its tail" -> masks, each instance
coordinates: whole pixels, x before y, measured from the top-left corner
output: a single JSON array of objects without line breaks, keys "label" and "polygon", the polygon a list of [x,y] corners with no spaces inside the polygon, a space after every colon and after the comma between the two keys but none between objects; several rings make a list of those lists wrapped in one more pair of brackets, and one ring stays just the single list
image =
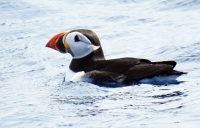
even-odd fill
[{"label": "folded black wing along the puffin's back to its tail", "polygon": [[124,83],[129,83],[154,76],[183,74],[173,70],[175,65],[175,61],[151,62],[146,59],[119,58],[91,63],[85,72],[96,70],[124,75],[126,77]]}]

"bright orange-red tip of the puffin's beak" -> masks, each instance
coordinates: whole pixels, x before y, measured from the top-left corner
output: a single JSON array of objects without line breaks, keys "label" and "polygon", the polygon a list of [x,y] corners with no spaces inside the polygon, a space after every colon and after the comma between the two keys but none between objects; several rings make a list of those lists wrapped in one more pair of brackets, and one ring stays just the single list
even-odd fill
[{"label": "bright orange-red tip of the puffin's beak", "polygon": [[54,50],[57,50],[56,48],[56,42],[58,41],[58,39],[63,35],[65,34],[64,32],[61,32],[61,33],[58,33],[56,34],[55,36],[53,36],[49,42],[46,44],[46,47],[49,47],[49,48],[52,48]]}]

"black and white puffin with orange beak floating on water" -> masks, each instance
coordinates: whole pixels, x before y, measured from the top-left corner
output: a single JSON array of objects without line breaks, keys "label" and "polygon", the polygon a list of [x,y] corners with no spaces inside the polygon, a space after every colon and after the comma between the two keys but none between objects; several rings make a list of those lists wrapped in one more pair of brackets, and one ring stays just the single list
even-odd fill
[{"label": "black and white puffin with orange beak floating on water", "polygon": [[[186,72],[174,70],[176,62],[124,57],[105,59],[98,36],[88,29],[75,29],[54,35],[46,47],[60,53],[69,53],[65,81],[130,84],[155,78],[176,79]],[[161,79],[162,81],[163,79]]]}]

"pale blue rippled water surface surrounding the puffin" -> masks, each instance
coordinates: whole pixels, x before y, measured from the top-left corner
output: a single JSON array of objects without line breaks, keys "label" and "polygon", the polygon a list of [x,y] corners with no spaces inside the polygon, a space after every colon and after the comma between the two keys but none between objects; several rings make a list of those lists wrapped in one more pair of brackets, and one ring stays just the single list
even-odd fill
[{"label": "pale blue rippled water surface surrounding the puffin", "polygon": [[[46,48],[85,28],[106,59],[175,60],[180,84],[63,82],[71,56]],[[200,0],[0,0],[1,128],[198,128]]]}]

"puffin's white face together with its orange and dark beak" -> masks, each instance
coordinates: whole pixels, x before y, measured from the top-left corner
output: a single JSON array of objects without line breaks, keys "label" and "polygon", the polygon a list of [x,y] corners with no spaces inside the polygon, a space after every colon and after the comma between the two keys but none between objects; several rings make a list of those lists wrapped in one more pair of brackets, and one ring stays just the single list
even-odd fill
[{"label": "puffin's white face together with its orange and dark beak", "polygon": [[100,48],[100,46],[93,45],[85,35],[78,31],[58,33],[49,40],[46,47],[60,53],[70,53],[73,59],[83,58]]}]

